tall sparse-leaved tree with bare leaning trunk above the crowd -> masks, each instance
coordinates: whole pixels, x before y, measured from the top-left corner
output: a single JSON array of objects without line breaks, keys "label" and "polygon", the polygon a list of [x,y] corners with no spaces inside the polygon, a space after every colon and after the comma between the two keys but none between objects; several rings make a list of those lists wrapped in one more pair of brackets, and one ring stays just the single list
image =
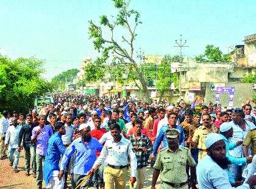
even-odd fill
[{"label": "tall sparse-leaved tree with bare leaning trunk above the crowd", "polygon": [[[139,88],[143,91],[146,101],[149,101],[149,92],[147,83],[140,72],[140,69],[133,58],[133,41],[137,38],[137,27],[142,24],[140,21],[140,13],[136,10],[129,9],[129,2],[125,0],[112,0],[114,7],[119,10],[116,16],[100,16],[101,20],[99,25],[96,25],[94,21],[89,21],[89,34],[90,38],[93,38],[94,48],[98,52],[102,53],[101,58],[98,58],[95,65],[103,64],[110,57],[109,53],[112,53],[113,57],[117,58],[120,64],[129,67],[129,76],[135,81],[136,78],[140,80]],[[110,20],[111,18],[111,20]],[[128,36],[120,36],[122,41],[117,41],[116,33],[126,33],[124,29],[129,33]],[[115,31],[115,33],[114,33]],[[108,32],[108,33],[107,33]],[[109,35],[107,39],[105,36]],[[136,81],[135,81],[136,82]]]}]

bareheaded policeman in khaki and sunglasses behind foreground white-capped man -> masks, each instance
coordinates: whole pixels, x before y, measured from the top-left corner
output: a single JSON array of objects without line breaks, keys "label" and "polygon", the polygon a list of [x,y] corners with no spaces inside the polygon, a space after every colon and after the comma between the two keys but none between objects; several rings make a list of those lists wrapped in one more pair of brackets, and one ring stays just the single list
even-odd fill
[{"label": "bareheaded policeman in khaki and sunglasses behind foreground white-capped man", "polygon": [[[205,139],[210,133],[218,132],[218,129],[213,129],[211,125],[211,117],[209,114],[202,115],[202,125],[194,131],[194,136],[191,141],[191,146],[197,146],[199,149],[198,162],[206,156]],[[188,141],[190,142],[190,141]]]}]

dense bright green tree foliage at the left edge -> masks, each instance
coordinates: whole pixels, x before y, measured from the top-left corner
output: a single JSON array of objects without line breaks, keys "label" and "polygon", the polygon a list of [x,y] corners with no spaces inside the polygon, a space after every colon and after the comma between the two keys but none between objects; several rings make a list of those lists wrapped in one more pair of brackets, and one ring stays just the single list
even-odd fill
[{"label": "dense bright green tree foliage at the left edge", "polygon": [[34,107],[36,96],[52,90],[41,74],[44,61],[35,57],[10,60],[0,54],[0,111],[26,113]]}]

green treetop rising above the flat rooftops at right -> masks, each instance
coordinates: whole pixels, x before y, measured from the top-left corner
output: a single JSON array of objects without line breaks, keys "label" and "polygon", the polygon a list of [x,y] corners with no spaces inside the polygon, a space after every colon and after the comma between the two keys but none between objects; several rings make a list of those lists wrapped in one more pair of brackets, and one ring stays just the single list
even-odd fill
[{"label": "green treetop rising above the flat rooftops at right", "polygon": [[196,57],[196,61],[201,62],[218,62],[218,61],[230,61],[230,54],[223,54],[219,47],[213,46],[213,44],[208,44],[205,47],[205,52],[198,57]]}]

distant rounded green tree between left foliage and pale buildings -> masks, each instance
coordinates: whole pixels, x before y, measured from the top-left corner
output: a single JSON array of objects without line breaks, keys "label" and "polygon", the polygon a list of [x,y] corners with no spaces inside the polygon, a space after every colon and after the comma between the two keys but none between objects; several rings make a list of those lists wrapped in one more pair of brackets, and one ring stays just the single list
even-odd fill
[{"label": "distant rounded green tree between left foliage and pale buildings", "polygon": [[79,72],[78,69],[69,69],[61,74],[56,75],[52,78],[51,83],[55,86],[55,88],[61,88],[62,90],[65,89],[66,81],[71,82],[74,78],[76,78],[77,73]]}]

